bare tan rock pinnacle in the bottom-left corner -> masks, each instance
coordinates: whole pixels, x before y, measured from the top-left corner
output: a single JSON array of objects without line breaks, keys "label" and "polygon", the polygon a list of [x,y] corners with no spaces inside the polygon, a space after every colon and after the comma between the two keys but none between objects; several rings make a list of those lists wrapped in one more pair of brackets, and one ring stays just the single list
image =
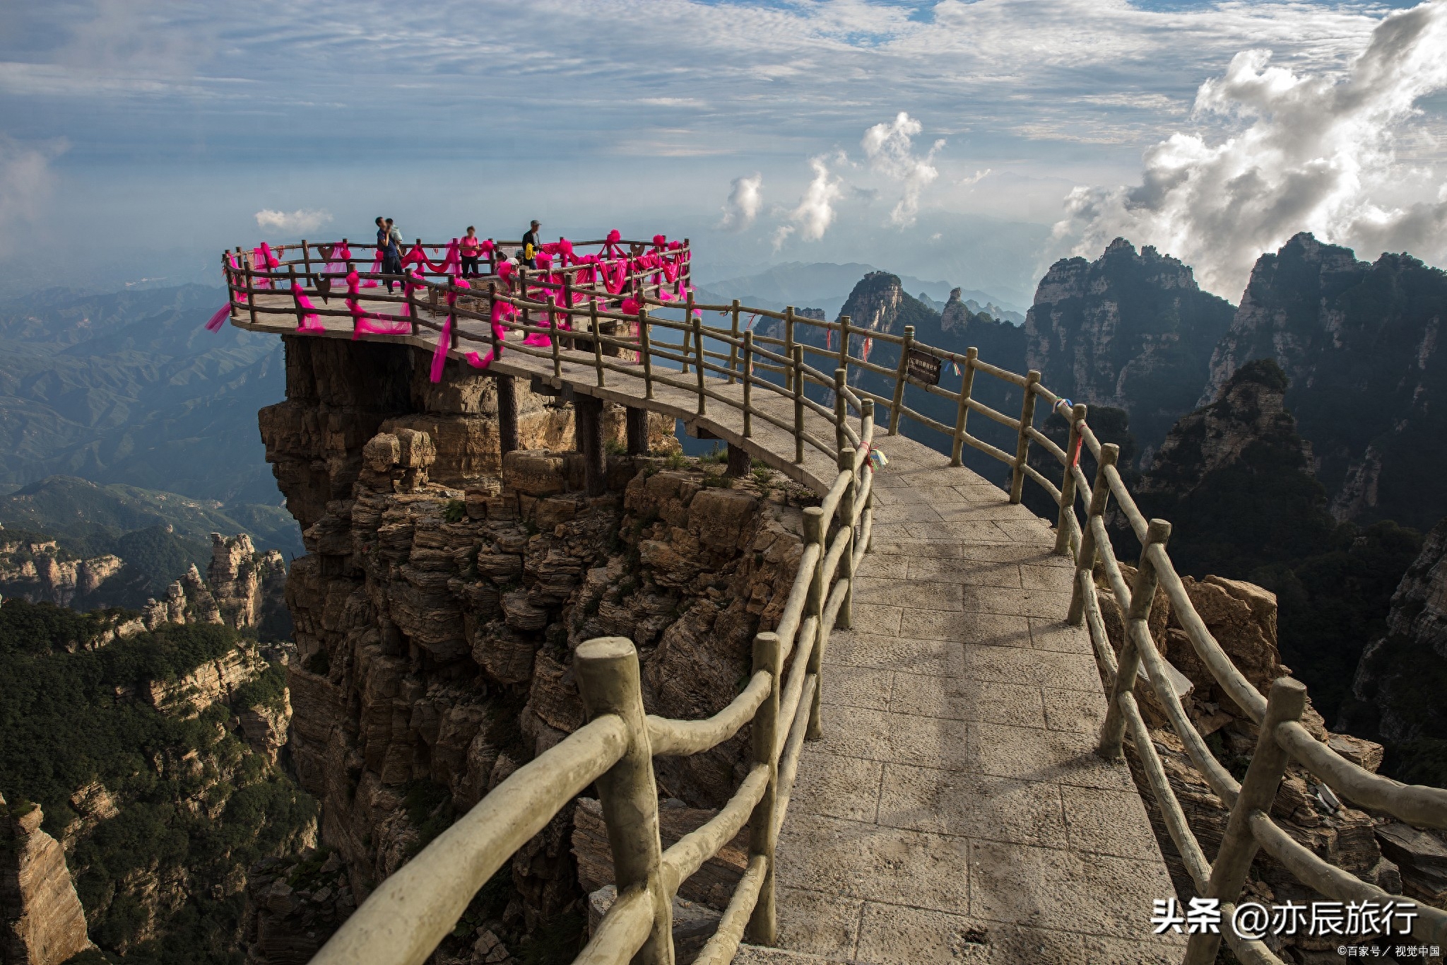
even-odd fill
[{"label": "bare tan rock pinnacle in the bottom-left corner", "polygon": [[0,797],[0,958],[61,965],[91,948],[65,849],[41,830],[38,804]]}]

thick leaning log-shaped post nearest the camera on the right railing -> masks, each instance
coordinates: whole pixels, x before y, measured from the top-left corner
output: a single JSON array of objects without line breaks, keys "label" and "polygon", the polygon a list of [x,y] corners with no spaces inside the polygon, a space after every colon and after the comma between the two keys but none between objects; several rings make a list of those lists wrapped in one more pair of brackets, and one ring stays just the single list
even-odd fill
[{"label": "thick leaning log-shaped post nearest the camera on the right railing", "polygon": [[[1256,754],[1246,768],[1246,778],[1242,790],[1236,796],[1231,816],[1226,822],[1226,833],[1221,836],[1221,846],[1215,852],[1211,864],[1211,880],[1205,887],[1205,897],[1220,898],[1226,909],[1236,903],[1250,872],[1252,859],[1260,846],[1252,833],[1252,813],[1270,813],[1272,802],[1276,800],[1276,788],[1286,773],[1289,755],[1276,742],[1276,728],[1286,720],[1299,720],[1307,707],[1307,687],[1299,680],[1278,677],[1272,681],[1270,694],[1266,697],[1266,715],[1262,718],[1260,735],[1256,738]],[[1231,927],[1229,916],[1223,914],[1221,927]],[[1184,965],[1210,965],[1215,961],[1215,952],[1221,946],[1220,933],[1197,932],[1185,945]]]}]

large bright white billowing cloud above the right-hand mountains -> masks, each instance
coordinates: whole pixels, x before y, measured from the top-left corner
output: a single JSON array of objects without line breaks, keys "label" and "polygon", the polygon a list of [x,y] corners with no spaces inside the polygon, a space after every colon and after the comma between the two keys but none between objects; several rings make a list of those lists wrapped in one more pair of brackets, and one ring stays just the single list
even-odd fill
[{"label": "large bright white billowing cloud above the right-hand mountains", "polygon": [[1447,0],[1385,17],[1340,80],[1243,51],[1195,98],[1195,116],[1237,124],[1233,136],[1213,146],[1200,133],[1174,133],[1146,150],[1139,185],[1075,188],[1055,237],[1092,258],[1116,236],[1155,245],[1229,298],[1262,252],[1297,231],[1363,258],[1405,249],[1441,259],[1447,185],[1406,207],[1388,198],[1408,175],[1395,145],[1425,133],[1408,130],[1414,104],[1447,87],[1444,49]]}]

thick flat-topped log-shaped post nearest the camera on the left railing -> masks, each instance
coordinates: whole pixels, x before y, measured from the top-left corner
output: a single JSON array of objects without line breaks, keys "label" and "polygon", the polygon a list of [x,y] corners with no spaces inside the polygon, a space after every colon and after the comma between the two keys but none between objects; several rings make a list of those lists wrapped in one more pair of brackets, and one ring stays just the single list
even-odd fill
[{"label": "thick flat-topped log-shaped post nearest the camera on the left railing", "polygon": [[632,961],[673,965],[673,900],[660,875],[658,790],[653,778],[638,651],[624,637],[595,637],[573,652],[573,674],[589,719],[614,713],[628,729],[628,749],[598,778],[596,787],[618,894],[645,888],[653,903],[653,929]]}]

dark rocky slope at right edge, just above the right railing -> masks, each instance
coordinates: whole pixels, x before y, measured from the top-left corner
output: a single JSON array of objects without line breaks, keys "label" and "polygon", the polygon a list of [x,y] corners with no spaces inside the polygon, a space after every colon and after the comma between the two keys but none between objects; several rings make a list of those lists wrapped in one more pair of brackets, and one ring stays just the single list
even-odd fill
[{"label": "dark rocky slope at right edge, just above the right railing", "polygon": [[1447,741],[1447,519],[1392,596],[1386,635],[1357,664],[1341,723],[1382,741]]}]

